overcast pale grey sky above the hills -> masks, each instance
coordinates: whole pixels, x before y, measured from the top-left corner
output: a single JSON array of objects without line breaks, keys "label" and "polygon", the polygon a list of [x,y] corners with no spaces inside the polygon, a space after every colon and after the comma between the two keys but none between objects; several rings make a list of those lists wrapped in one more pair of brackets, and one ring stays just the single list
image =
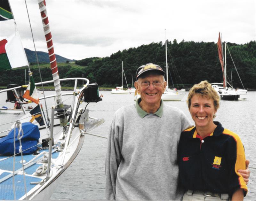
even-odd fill
[{"label": "overcast pale grey sky above the hills", "polygon": [[[34,50],[23,0],[10,0],[23,46]],[[27,0],[36,50],[47,52],[37,1]],[[256,40],[256,1],[46,0],[55,54],[69,59],[108,57],[118,50],[176,39],[244,44]],[[1,22],[0,39],[14,33]]]}]

